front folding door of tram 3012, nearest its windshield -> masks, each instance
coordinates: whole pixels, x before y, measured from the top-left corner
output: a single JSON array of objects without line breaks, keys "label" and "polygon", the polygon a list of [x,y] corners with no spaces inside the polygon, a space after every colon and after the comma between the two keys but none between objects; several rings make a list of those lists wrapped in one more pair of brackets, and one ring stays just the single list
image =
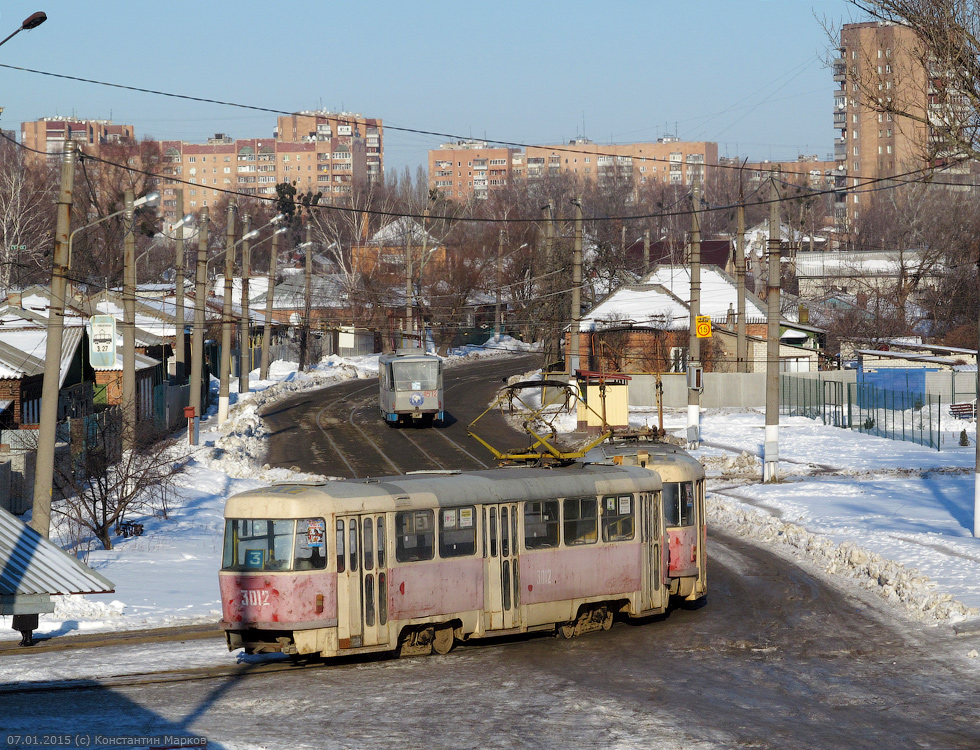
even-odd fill
[{"label": "front folding door of tram 3012, nearest its windshield", "polygon": [[384,515],[337,518],[337,638],[340,648],[388,643]]}]

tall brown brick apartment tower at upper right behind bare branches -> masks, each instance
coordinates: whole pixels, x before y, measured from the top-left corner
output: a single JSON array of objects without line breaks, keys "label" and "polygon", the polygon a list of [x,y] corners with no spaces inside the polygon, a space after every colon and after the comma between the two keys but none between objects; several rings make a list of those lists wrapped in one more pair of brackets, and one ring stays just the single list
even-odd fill
[{"label": "tall brown brick apartment tower at upper right behind bare branches", "polygon": [[[927,165],[928,129],[922,122],[878,112],[879,101],[925,116],[931,91],[916,55],[917,39],[905,26],[845,24],[834,60],[834,159],[837,187],[855,188]],[[876,101],[877,100],[877,101]],[[840,192],[835,223],[846,228],[860,215],[867,194]]]}]

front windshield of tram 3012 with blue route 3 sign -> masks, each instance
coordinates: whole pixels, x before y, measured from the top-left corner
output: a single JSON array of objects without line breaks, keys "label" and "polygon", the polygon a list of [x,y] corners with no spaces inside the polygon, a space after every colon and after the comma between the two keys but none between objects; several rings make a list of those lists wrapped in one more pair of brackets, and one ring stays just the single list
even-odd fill
[{"label": "front windshield of tram 3012 with blue route 3 sign", "polygon": [[322,570],[327,566],[322,518],[225,521],[222,570]]}]

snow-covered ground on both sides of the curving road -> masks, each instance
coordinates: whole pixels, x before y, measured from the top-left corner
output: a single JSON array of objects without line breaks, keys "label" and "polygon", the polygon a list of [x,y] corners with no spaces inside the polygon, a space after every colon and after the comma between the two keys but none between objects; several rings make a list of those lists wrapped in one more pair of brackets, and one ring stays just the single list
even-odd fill
[{"label": "snow-covered ground on both sides of the curving road", "polygon": [[[450,357],[498,356],[513,341]],[[272,481],[305,477],[259,464],[265,430],[257,413],[271,400],[351,378],[377,376],[377,356],[328,358],[313,372],[276,362],[269,381],[251,381],[233,394],[231,418],[219,427],[202,421],[201,445],[191,458],[167,518],[148,518],[139,537],[116,540],[111,551],[92,545],[86,562],[116,585],[108,596],[56,599],[38,635],[150,628],[213,622],[220,617],[217,570],[224,499]],[[232,388],[236,386],[233,380]],[[665,426],[684,433],[686,412],[668,413]],[[636,424],[656,415],[637,411]],[[695,451],[711,479],[709,526],[779,545],[816,562],[830,575],[856,579],[900,605],[896,610],[929,623],[980,621],[980,539],[973,525],[973,447],[942,452],[861,435],[802,417],[780,425],[779,484],[760,483],[764,415],[706,411],[703,447]],[[971,437],[975,426],[968,425]],[[710,533],[710,530],[709,530]],[[53,536],[58,536],[57,519]],[[0,617],[0,639],[19,639]],[[220,642],[201,644],[201,658],[232,658]],[[212,653],[215,652],[215,653]],[[8,667],[9,665],[9,667]],[[46,679],[18,675],[9,660],[4,681]],[[66,662],[61,661],[59,674]],[[81,667],[80,667],[81,669]],[[43,672],[43,669],[42,669]],[[86,675],[92,677],[94,675]]]}]

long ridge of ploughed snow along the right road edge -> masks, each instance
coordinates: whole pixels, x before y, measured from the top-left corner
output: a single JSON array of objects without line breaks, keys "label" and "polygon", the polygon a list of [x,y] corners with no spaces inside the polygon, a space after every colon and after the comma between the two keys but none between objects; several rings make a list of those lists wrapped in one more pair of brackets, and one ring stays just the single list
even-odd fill
[{"label": "long ridge of ploughed snow along the right road edge", "polygon": [[719,499],[717,494],[708,497],[708,513],[709,524],[746,540],[786,545],[798,557],[816,563],[827,575],[853,578],[877,591],[914,620],[954,624],[980,615],[980,609],[967,607],[952,594],[937,592],[935,584],[918,570],[868,552],[852,541],[835,545],[802,526]]}]

